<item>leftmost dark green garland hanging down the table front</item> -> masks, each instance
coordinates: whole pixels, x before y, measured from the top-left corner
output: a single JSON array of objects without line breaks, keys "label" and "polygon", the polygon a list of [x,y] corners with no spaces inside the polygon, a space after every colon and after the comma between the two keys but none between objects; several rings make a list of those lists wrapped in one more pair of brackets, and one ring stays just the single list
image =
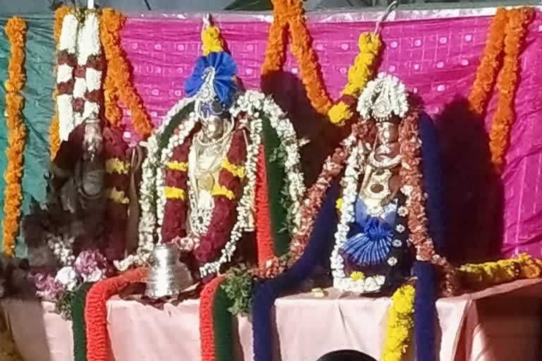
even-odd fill
[{"label": "leftmost dark green garland hanging down the table front", "polygon": [[83,283],[71,300],[71,319],[73,331],[73,360],[87,360],[87,333],[85,330],[85,300],[93,283]]}]

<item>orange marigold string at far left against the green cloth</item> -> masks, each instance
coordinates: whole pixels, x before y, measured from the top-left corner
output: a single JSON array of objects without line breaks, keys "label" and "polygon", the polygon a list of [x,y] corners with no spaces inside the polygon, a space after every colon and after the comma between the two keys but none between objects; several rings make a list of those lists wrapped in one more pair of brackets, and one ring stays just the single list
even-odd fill
[{"label": "orange marigold string at far left against the green cloth", "polygon": [[2,252],[13,257],[15,239],[19,228],[21,194],[20,179],[23,176],[23,151],[25,149],[25,123],[21,117],[24,106],[20,91],[25,86],[25,20],[9,18],[6,23],[11,55],[8,63],[6,88],[6,128],[8,148],[6,149],[7,166],[4,173],[4,219],[2,220]]}]

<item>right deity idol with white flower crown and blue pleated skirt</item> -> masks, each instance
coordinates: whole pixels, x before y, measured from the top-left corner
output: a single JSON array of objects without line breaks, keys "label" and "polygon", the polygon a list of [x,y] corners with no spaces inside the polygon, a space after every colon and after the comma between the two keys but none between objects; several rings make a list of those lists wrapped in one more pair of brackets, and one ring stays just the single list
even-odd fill
[{"label": "right deity idol with white flower crown and blue pleated skirt", "polygon": [[354,126],[356,137],[337,202],[339,224],[331,258],[336,288],[356,293],[393,290],[411,275],[411,246],[416,259],[451,269],[435,250],[426,216],[424,185],[432,184],[421,170],[426,159],[420,129],[432,122],[425,114],[418,118],[413,109],[404,85],[391,75],[378,75],[359,98],[362,120]]}]

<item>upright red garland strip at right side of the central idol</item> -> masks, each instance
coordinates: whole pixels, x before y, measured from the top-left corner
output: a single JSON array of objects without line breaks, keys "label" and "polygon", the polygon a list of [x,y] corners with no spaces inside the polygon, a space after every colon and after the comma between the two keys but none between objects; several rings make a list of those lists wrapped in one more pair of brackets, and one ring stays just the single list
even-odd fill
[{"label": "upright red garland strip at right side of the central idol", "polygon": [[273,237],[269,222],[269,197],[267,194],[267,171],[265,169],[265,154],[263,145],[258,149],[258,163],[256,164],[255,214],[256,245],[258,248],[258,264],[260,266],[275,257],[273,250]]}]

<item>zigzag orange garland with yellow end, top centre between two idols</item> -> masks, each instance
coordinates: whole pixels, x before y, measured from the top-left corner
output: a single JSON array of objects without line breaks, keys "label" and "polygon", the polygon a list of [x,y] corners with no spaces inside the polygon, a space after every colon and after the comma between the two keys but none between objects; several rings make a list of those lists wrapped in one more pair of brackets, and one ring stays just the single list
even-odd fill
[{"label": "zigzag orange garland with yellow end, top centre between two idols", "polygon": [[284,40],[291,35],[291,52],[301,70],[301,81],[308,99],[320,114],[330,116],[332,123],[342,125],[355,114],[356,96],[373,76],[373,68],[382,43],[377,33],[363,33],[359,37],[360,53],[348,71],[348,83],[337,104],[327,94],[316,54],[303,19],[303,3],[299,0],[273,0],[273,22],[269,30],[265,61],[261,74],[272,75],[280,71],[286,59]]}]

